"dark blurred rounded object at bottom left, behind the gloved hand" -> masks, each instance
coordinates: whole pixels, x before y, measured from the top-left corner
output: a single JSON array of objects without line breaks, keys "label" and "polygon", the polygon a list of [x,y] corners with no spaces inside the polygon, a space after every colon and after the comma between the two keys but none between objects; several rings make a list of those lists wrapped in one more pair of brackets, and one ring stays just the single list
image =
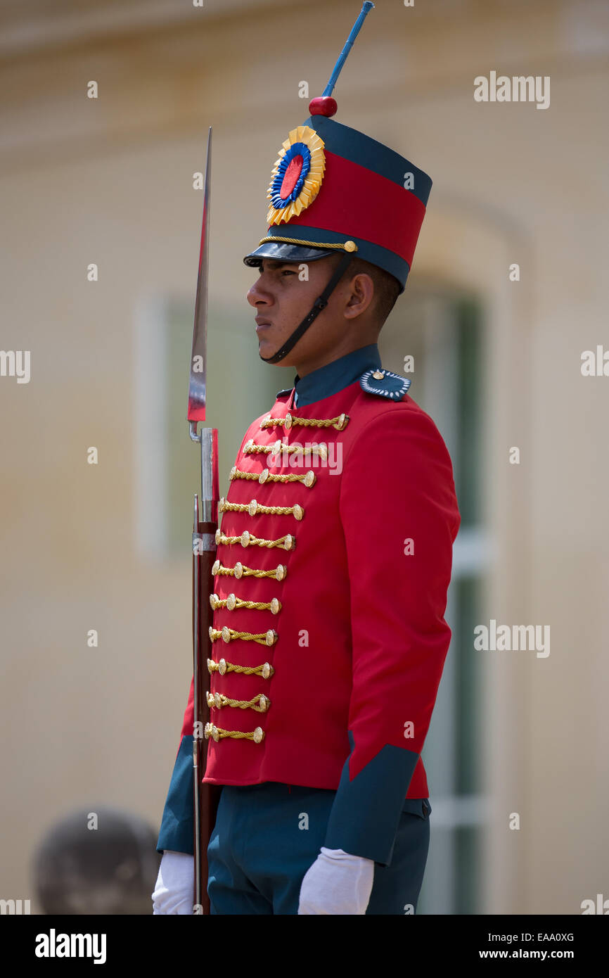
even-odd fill
[{"label": "dark blurred rounded object at bottom left, behind the gloved hand", "polygon": [[151,825],[129,812],[92,807],[66,816],[34,856],[42,911],[152,913],[160,863],[155,847]]}]

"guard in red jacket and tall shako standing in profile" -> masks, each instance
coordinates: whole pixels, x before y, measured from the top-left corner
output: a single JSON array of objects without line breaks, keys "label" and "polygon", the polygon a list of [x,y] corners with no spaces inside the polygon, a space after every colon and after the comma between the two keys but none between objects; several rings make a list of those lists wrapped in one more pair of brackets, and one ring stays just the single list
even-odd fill
[{"label": "guard in red jacket and tall shako standing in profile", "polygon": [[[460,517],[446,445],[377,339],[431,180],[334,121],[327,94],[309,110],[244,258],[259,356],[296,377],[245,432],[219,505],[204,776],[221,786],[215,914],[414,912],[429,845],[420,754]],[[192,738],[191,687],[155,913],[193,912]]]}]

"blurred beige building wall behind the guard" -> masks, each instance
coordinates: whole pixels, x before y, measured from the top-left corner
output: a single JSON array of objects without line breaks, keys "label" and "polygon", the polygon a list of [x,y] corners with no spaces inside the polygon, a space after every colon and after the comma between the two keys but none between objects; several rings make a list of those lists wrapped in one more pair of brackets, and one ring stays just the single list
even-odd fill
[{"label": "blurred beige building wall behind the guard", "polygon": [[[194,301],[209,124],[210,306],[235,323],[210,377],[224,470],[290,377],[258,362],[241,256],[265,233],[277,150],[308,115],[298,83],[321,94],[359,3],[184,6],[0,7],[0,347],[31,350],[28,384],[0,378],[4,898],[33,897],[32,846],[72,807],[160,820],[191,675],[191,561],[136,542],[136,321],[151,296]],[[485,607],[551,628],[546,659],[486,653],[491,913],[609,897],[609,378],[580,371],[583,350],[609,347],[608,21],[591,0],[379,0],[335,91],[340,121],[433,178],[412,281],[485,306]],[[549,75],[550,107],[475,103],[491,70]]]}]

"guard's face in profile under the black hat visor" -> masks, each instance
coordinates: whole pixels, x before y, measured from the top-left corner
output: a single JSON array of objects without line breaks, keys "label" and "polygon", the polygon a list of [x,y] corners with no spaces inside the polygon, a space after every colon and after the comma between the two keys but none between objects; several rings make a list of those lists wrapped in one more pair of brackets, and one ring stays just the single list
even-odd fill
[{"label": "guard's face in profile under the black hat visor", "polygon": [[[303,269],[306,270],[308,281]],[[276,261],[264,258],[258,269],[258,279],[247,292],[247,301],[256,310],[258,353],[264,359],[272,357],[305,318],[331,278],[334,262],[331,256],[302,262]],[[336,290],[326,309],[319,313],[312,326],[300,337],[286,357],[282,367],[295,366],[331,348],[344,324],[332,308],[339,297]]]}]

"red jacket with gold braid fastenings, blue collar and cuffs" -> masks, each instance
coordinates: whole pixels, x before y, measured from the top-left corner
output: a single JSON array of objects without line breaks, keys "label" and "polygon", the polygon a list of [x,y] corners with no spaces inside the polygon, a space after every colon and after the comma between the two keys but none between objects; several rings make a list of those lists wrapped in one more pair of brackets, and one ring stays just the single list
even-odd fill
[{"label": "red jacket with gold braid fastenings, blue collar and cuffs", "polygon": [[[326,789],[322,844],[381,866],[402,814],[431,808],[420,751],[459,525],[448,451],[407,386],[373,344],[249,426],[220,503],[208,663],[204,779]],[[193,689],[159,851],[193,851],[192,711]]]}]

